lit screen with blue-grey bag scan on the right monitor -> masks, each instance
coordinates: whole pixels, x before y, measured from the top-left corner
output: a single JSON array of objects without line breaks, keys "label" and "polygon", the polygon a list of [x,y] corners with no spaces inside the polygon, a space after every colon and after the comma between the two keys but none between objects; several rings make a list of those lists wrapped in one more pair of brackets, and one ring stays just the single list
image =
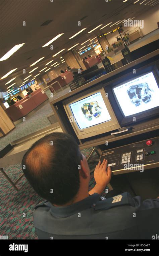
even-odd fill
[{"label": "lit screen with blue-grey bag scan on the right monitor", "polygon": [[113,88],[125,117],[159,106],[159,88],[153,72]]}]

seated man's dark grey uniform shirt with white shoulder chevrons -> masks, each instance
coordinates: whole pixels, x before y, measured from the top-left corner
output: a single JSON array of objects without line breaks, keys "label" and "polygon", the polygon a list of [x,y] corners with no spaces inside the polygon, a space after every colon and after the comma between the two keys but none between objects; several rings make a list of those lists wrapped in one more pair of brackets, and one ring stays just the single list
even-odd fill
[{"label": "seated man's dark grey uniform shirt with white shoulder chevrons", "polygon": [[44,201],[35,209],[39,239],[152,239],[159,233],[159,199],[127,192],[102,201],[95,193],[64,207]]}]

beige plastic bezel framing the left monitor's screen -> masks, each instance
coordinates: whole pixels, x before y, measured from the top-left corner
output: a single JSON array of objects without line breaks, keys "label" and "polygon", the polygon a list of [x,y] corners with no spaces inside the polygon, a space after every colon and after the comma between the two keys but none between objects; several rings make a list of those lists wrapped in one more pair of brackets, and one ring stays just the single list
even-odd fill
[{"label": "beige plastic bezel framing the left monitor's screen", "polygon": [[[69,98],[69,99],[63,101],[63,102],[62,102],[62,103],[63,103],[63,107],[64,107],[64,109],[65,109],[65,112],[66,112],[66,115],[67,115],[67,117],[68,117],[68,120],[70,120],[70,116],[73,116],[73,113],[72,113],[71,108],[70,108],[70,106],[69,106],[70,104],[72,104],[72,103],[74,103],[74,102],[76,102],[76,101],[82,100],[82,99],[84,99],[84,98],[87,98],[87,97],[89,97],[89,96],[91,96],[91,95],[94,95],[94,94],[96,94],[96,93],[98,93],[98,92],[101,93],[101,96],[102,96],[102,98],[103,98],[103,100],[104,100],[104,103],[105,103],[105,105],[106,105],[106,107],[107,107],[107,110],[108,110],[108,112],[109,112],[109,115],[110,115],[110,117],[111,117],[111,120],[106,121],[106,122],[103,122],[103,123],[100,123],[100,124],[97,124],[97,125],[93,125],[93,126],[90,126],[90,127],[84,128],[84,129],[80,129],[80,128],[78,127],[78,125],[77,125],[76,122],[70,122],[70,123],[71,123],[71,126],[72,126],[72,128],[73,128],[73,130],[74,130],[74,132],[76,133],[76,135],[77,135],[78,138],[79,138],[79,136],[81,136],[81,135],[86,135],[86,137],[91,137],[91,136],[89,136],[89,133],[95,131],[95,129],[96,129],[96,131],[97,131],[98,129],[104,129],[105,127],[111,127],[111,126],[115,126],[115,129],[121,128],[120,125],[119,125],[119,123],[118,123],[118,120],[117,120],[117,118],[116,118],[116,116],[115,116],[115,114],[114,114],[114,111],[113,111],[113,109],[112,109],[112,107],[111,107],[111,104],[110,104],[110,102],[109,102],[109,99],[108,99],[107,97],[105,97],[106,92],[105,92],[103,86],[100,87],[99,89],[96,89],[96,90],[94,90],[94,89],[89,89],[89,90],[87,90],[87,91],[85,91],[85,92],[82,92],[82,93],[80,93],[80,94],[77,94],[77,95],[75,95],[75,96],[72,96],[71,98]],[[74,116],[73,116],[73,117],[74,117]],[[75,119],[75,118],[74,118],[74,119]],[[76,121],[76,120],[75,120],[75,121]],[[107,122],[109,122],[109,126],[106,126],[106,125],[105,125],[105,123],[107,123]],[[96,127],[96,128],[95,128],[95,127]],[[115,129],[114,129],[114,130],[115,130]],[[105,130],[105,132],[108,132],[108,131],[112,131],[112,130],[110,130],[110,128],[109,128],[109,130],[107,130],[107,129]],[[88,134],[88,136],[87,136],[87,134]],[[101,133],[99,133],[99,134],[101,134]],[[97,133],[97,135],[98,135],[98,133]]]}]

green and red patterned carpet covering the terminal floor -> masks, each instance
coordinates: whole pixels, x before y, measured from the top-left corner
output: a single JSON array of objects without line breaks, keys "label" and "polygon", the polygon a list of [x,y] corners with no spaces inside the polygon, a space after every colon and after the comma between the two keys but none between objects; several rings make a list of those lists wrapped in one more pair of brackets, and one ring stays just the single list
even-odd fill
[{"label": "green and red patterned carpet covering the terminal floor", "polygon": [[[46,115],[47,113],[47,115]],[[26,118],[25,122],[16,125],[16,128],[3,138],[0,138],[0,150],[9,142],[40,130],[50,122],[47,116],[52,113],[49,103],[39,109],[34,115]],[[83,150],[83,154],[87,157],[92,149]],[[97,158],[96,153],[93,158]],[[94,168],[96,163],[90,165],[90,169]],[[12,165],[5,169],[8,176],[15,181],[22,173],[21,164]],[[11,187],[10,183],[4,178],[0,172],[1,178],[1,220],[0,235],[8,235],[8,239],[38,239],[33,225],[32,213],[36,204],[43,201],[35,191],[31,188],[25,177],[18,182],[16,191]],[[93,174],[91,175],[90,189],[94,187]]]}]

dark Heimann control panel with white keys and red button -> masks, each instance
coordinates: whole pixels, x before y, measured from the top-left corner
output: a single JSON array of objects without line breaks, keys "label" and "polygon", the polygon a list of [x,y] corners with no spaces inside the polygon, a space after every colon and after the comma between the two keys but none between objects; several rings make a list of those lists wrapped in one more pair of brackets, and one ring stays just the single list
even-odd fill
[{"label": "dark Heimann control panel with white keys and red button", "polygon": [[105,150],[100,156],[100,161],[104,158],[108,160],[113,174],[143,172],[159,167],[159,137]]}]

